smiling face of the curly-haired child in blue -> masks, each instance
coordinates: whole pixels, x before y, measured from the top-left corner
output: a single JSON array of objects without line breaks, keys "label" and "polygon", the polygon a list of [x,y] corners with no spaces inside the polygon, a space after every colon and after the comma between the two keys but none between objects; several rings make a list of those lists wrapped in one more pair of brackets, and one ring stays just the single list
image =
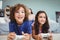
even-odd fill
[{"label": "smiling face of the curly-haired child in blue", "polygon": [[15,19],[18,24],[22,24],[25,18],[25,11],[23,7],[20,7],[20,9],[15,12]]}]

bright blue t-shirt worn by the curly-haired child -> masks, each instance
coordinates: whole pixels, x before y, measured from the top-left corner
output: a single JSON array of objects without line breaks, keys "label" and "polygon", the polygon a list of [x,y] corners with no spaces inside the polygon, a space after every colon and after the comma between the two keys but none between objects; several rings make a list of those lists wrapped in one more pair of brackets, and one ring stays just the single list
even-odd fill
[{"label": "bright blue t-shirt worn by the curly-haired child", "polygon": [[31,34],[32,33],[32,25],[31,21],[25,21],[21,25],[17,25],[15,22],[9,23],[10,32],[15,32],[17,35],[22,35],[22,32]]}]

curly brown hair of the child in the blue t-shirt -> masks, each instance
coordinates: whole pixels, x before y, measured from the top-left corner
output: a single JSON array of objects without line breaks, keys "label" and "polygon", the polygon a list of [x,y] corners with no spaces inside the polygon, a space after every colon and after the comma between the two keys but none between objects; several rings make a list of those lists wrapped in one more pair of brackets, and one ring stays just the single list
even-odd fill
[{"label": "curly brown hair of the child in the blue t-shirt", "polygon": [[25,11],[24,21],[28,19],[28,10],[27,10],[26,6],[23,5],[23,4],[16,4],[15,6],[11,7],[11,9],[10,9],[10,19],[11,19],[11,21],[16,22],[14,14],[15,14],[16,11],[19,10],[20,7],[23,7],[24,11]]}]

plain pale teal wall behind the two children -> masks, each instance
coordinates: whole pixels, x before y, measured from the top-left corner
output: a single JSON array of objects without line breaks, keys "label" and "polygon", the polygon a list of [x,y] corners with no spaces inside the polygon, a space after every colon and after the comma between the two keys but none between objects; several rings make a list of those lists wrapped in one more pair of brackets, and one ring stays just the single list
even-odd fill
[{"label": "plain pale teal wall behind the two children", "polygon": [[56,21],[56,11],[60,11],[60,0],[2,0],[4,9],[6,5],[14,5],[17,3],[25,4],[27,7],[32,8],[34,14],[38,10],[46,11],[48,17]]}]

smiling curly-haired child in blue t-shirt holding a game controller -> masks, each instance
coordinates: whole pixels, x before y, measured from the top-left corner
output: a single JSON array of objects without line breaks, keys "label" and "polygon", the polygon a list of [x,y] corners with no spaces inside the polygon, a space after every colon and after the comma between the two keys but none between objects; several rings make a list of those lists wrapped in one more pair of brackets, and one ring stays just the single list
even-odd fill
[{"label": "smiling curly-haired child in blue t-shirt holding a game controller", "polygon": [[23,4],[17,4],[11,8],[10,11],[10,33],[8,40],[13,40],[15,35],[24,35],[23,40],[29,40],[32,29],[28,21],[28,10]]}]

